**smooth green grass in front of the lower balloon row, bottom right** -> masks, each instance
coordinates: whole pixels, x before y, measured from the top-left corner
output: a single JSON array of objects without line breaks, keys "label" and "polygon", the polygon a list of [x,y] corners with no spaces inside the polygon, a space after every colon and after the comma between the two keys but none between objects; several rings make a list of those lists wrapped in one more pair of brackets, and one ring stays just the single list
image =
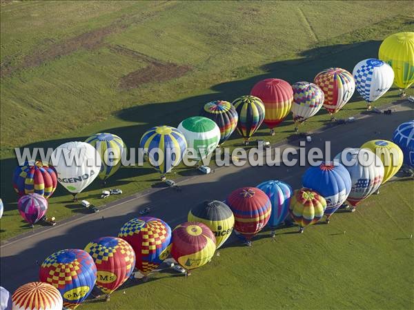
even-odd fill
[{"label": "smooth green grass in front of the lower balloon row, bottom right", "polygon": [[329,225],[280,229],[275,240],[261,233],[189,278],[154,274],[82,309],[413,309],[411,185],[385,184]]}]

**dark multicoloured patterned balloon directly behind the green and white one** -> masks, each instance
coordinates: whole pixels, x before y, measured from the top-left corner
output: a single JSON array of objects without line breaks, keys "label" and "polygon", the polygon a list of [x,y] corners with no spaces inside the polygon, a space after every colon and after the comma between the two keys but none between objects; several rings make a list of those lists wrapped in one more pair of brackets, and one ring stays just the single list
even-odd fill
[{"label": "dark multicoloured patterned balloon directly behind the green and white one", "polygon": [[228,101],[210,101],[201,109],[200,116],[207,117],[219,126],[220,141],[219,145],[226,142],[230,135],[235,131],[239,115],[233,104]]}]

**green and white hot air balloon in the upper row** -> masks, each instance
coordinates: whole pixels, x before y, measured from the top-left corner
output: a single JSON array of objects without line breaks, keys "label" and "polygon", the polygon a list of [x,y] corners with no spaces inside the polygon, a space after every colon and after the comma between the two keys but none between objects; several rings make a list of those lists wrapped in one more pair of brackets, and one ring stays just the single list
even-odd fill
[{"label": "green and white hot air balloon in the upper row", "polygon": [[197,162],[213,153],[220,141],[219,127],[207,117],[188,117],[178,129],[186,137],[188,149],[192,150],[186,157]]}]

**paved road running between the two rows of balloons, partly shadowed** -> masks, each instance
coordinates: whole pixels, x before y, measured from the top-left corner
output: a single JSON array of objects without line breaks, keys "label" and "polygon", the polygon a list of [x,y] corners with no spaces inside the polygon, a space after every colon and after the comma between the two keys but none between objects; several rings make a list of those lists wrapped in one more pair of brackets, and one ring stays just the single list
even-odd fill
[{"label": "paved road running between the two rows of balloons, partly shadowed", "polygon": [[[332,141],[332,156],[345,147],[359,147],[369,139],[391,139],[394,128],[402,122],[414,118],[414,110],[409,104],[393,106],[392,115],[362,115],[357,122],[327,128],[315,133],[311,147],[322,147],[325,141]],[[284,144],[288,146],[299,146]],[[26,238],[1,246],[1,286],[13,291],[19,285],[37,280],[39,267],[46,256],[60,249],[83,247],[92,239],[103,235],[117,235],[119,228],[130,218],[137,216],[137,210],[149,205],[150,215],[160,217],[172,228],[184,222],[188,210],[205,199],[224,200],[226,195],[241,186],[256,186],[270,179],[284,180],[293,188],[300,187],[302,173],[306,166],[229,166],[218,168],[210,175],[200,175],[184,180],[179,185],[179,193],[165,188],[131,198],[117,206],[96,214],[78,217],[75,220],[33,233]],[[335,215],[332,218],[335,224]]]}]

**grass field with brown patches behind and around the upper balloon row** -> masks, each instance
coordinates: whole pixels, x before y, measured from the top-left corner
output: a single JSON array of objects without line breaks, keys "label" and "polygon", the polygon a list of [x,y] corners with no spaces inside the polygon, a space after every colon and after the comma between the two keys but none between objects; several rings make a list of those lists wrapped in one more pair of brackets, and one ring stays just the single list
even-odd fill
[{"label": "grass field with brown patches behind and around the upper balloon row", "polygon": [[[387,35],[414,30],[409,3],[1,2],[1,240],[28,231],[10,181],[14,147],[56,147],[102,131],[137,146],[148,128],[177,126],[210,100],[249,93],[260,79],[294,83],[329,66],[352,70],[376,57]],[[396,95],[392,90],[376,105]],[[364,105],[354,95],[338,116]],[[328,119],[321,110],[303,130]],[[257,135],[270,142],[292,135],[291,117],[276,131]],[[240,142],[235,134],[227,145]],[[108,187],[135,193],[157,179],[148,166],[121,168]],[[79,197],[99,205],[100,191],[95,182]],[[61,220],[84,212],[70,200],[59,186],[48,214]]]}]

